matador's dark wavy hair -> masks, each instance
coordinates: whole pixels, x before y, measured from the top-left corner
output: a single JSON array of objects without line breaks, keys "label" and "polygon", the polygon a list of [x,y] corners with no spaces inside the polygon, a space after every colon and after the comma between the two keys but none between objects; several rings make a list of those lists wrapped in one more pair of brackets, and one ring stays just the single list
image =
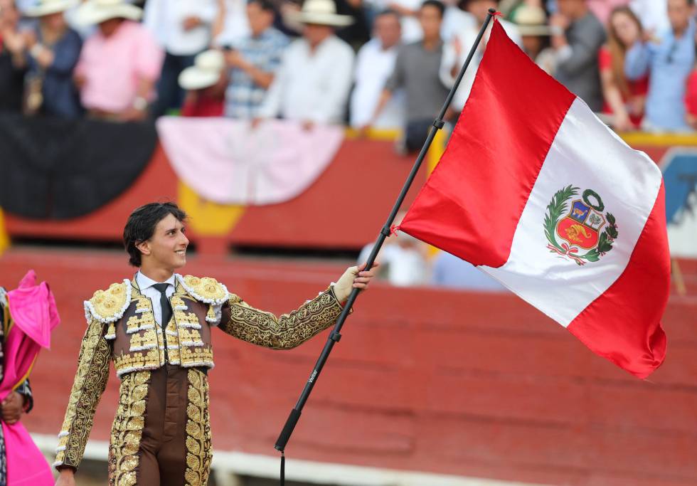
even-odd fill
[{"label": "matador's dark wavy hair", "polygon": [[124,227],[124,248],[128,252],[128,263],[140,267],[141,253],[136,245],[152,238],[157,223],[171,214],[179,221],[186,221],[186,213],[174,203],[150,203],[136,208],[128,217]]}]

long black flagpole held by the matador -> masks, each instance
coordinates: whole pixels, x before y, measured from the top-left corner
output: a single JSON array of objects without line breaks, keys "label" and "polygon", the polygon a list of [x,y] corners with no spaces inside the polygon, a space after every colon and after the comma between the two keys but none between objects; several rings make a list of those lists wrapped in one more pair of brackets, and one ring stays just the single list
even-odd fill
[{"label": "long black flagpole held by the matador", "polygon": [[[400,192],[397,201],[395,202],[395,205],[393,206],[392,211],[390,212],[390,216],[388,217],[385,226],[383,226],[382,230],[380,231],[380,234],[378,235],[378,241],[376,241],[375,245],[373,245],[371,255],[368,257],[368,261],[366,262],[366,270],[371,269],[378,255],[378,252],[380,251],[380,248],[385,242],[385,238],[390,236],[390,228],[392,226],[392,223],[395,221],[395,216],[397,215],[400,206],[402,206],[404,198],[406,197],[407,192],[409,191],[409,188],[421,167],[423,159],[426,157],[426,153],[428,152],[428,149],[431,146],[433,139],[435,138],[436,132],[442,129],[442,127],[445,125],[445,122],[443,121],[443,117],[445,117],[445,112],[447,111],[447,108],[450,106],[450,103],[452,102],[452,97],[455,95],[457,87],[462,81],[462,77],[464,76],[465,71],[467,71],[467,68],[469,67],[469,63],[472,62],[472,58],[474,57],[474,53],[477,52],[477,48],[479,47],[481,38],[484,37],[484,32],[486,31],[486,28],[489,26],[489,23],[491,23],[491,18],[494,15],[496,15],[496,10],[489,9],[489,14],[487,14],[484,24],[482,24],[481,28],[479,29],[477,40],[474,41],[474,45],[469,50],[467,60],[464,61],[462,69],[460,69],[460,72],[457,75],[457,78],[455,79],[455,83],[452,86],[452,88],[450,88],[450,93],[448,93],[447,98],[445,99],[445,103],[443,104],[443,107],[440,110],[440,114],[438,115],[436,120],[434,120],[433,127],[428,132],[428,137],[426,138],[426,142],[424,142],[424,145],[421,148],[419,157],[417,157],[416,162],[414,162],[414,167],[411,169],[407,181],[405,182],[402,191]],[[341,327],[344,326],[344,321],[346,320],[346,317],[349,315],[349,311],[353,306],[353,302],[356,302],[358,292],[359,290],[356,288],[351,290],[351,295],[349,295],[349,299],[346,300],[344,310],[341,312],[341,315],[339,315],[339,319],[336,319],[334,330],[331,332],[331,334],[329,334],[329,339],[327,339],[326,344],[324,344],[324,349],[322,349],[322,352],[319,355],[319,359],[317,359],[317,363],[314,365],[312,374],[310,374],[310,377],[307,380],[307,383],[305,384],[305,388],[300,394],[300,398],[298,398],[298,401],[295,404],[294,408],[292,409],[292,411],[290,411],[288,420],[283,426],[283,430],[281,430],[281,434],[278,436],[278,440],[276,440],[276,445],[274,447],[281,453],[281,485],[284,484],[285,447],[288,443],[288,440],[290,439],[290,435],[293,433],[293,430],[299,421],[300,413],[302,413],[302,408],[305,406],[305,402],[307,402],[307,398],[309,398],[310,393],[312,393],[312,388],[314,387],[314,384],[319,378],[319,374],[321,373],[322,368],[324,367],[324,363],[326,362],[327,358],[329,358],[329,353],[331,353],[331,349],[334,347],[334,344],[339,342],[339,339],[341,339],[341,334],[339,334],[339,332],[341,331]]]}]

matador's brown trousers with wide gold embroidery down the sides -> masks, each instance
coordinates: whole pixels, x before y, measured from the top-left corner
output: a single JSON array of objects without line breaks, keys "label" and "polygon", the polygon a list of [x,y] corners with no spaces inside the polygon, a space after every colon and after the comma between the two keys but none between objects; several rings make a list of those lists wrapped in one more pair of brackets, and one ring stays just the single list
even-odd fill
[{"label": "matador's brown trousers with wide gold embroidery down the sides", "polygon": [[167,364],[122,377],[109,451],[112,486],[206,486],[211,469],[208,377]]}]

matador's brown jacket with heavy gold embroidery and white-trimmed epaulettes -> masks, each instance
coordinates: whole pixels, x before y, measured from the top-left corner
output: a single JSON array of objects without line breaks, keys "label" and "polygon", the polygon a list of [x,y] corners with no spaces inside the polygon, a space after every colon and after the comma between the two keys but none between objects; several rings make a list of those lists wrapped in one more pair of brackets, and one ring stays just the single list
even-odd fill
[{"label": "matador's brown jacket with heavy gold embroidery and white-trimmed epaulettes", "polygon": [[110,361],[119,377],[166,363],[212,368],[211,327],[252,344],[291,349],[334,324],[341,313],[332,287],[276,317],[251,307],[213,278],[177,274],[175,282],[169,298],[172,317],[163,326],[156,324],[152,302],[135,279],[98,290],[85,302],[87,330],[58,434],[55,467],[80,465],[97,403],[107,386]]}]

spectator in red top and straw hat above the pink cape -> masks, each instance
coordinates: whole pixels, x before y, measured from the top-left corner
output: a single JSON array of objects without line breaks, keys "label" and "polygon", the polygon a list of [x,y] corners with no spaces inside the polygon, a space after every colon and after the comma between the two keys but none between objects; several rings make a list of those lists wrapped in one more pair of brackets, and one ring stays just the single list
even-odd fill
[{"label": "spectator in red top and straw hat above the pink cape", "polygon": [[186,91],[184,117],[220,117],[225,107],[225,58],[220,51],[203,51],[193,66],[181,71],[179,86]]}]

